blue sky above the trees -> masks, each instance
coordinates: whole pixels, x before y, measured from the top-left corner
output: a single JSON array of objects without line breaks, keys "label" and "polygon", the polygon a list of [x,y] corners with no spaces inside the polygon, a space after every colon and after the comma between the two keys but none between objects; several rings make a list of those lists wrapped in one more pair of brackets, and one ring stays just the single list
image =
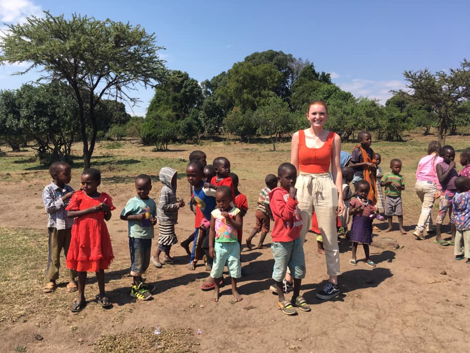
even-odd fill
[{"label": "blue sky above the trees", "polygon": [[[282,50],[308,59],[356,97],[379,99],[403,87],[403,71],[431,72],[470,59],[470,2],[448,1],[46,1],[0,0],[0,22],[24,16],[86,14],[142,25],[157,36],[169,69],[202,81],[229,70],[245,56]],[[38,74],[0,66],[0,89],[14,89]],[[141,89],[144,115],[152,90]],[[128,109],[130,110],[130,109]]]}]

